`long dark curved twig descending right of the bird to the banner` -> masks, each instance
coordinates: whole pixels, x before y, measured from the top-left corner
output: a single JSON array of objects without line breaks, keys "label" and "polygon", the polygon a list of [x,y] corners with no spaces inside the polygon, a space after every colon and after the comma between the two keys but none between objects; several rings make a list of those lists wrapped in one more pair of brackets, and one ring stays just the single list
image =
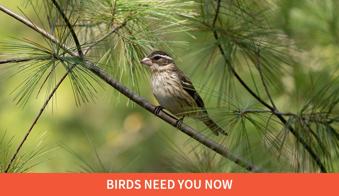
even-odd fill
[{"label": "long dark curved twig descending right of the bird to the banner", "polygon": [[[220,0],[218,1],[218,6],[216,9],[216,16],[215,18],[218,17],[219,15],[219,7],[220,7]],[[215,21],[214,21],[215,22]],[[215,28],[215,23],[212,25],[213,28]],[[216,30],[213,30],[213,34],[214,34],[214,38],[216,41],[219,41],[219,37],[217,34]],[[240,78],[240,76],[237,74],[237,72],[234,70],[234,68],[232,67],[229,59],[225,56],[225,52],[221,46],[220,43],[217,43],[219,51],[221,53],[221,55],[223,56],[223,58],[225,59],[225,62],[227,63],[228,67],[231,69],[231,72],[233,73],[233,75],[238,79],[238,81],[240,82],[240,84],[242,86],[245,87],[245,89],[254,97],[256,98],[260,103],[262,103],[264,106],[266,106],[268,109],[272,110],[273,112],[275,111],[274,107],[272,107],[271,105],[269,105],[268,103],[266,103],[264,100],[262,100],[260,97],[258,97],[258,95],[256,95],[251,89],[250,87],[247,86],[247,84]],[[323,165],[323,163],[321,162],[321,160],[319,159],[319,157],[315,154],[315,152],[312,150],[312,148],[305,142],[305,140],[303,138],[300,137],[300,135],[295,131],[295,129],[287,123],[287,120],[280,114],[275,114],[280,121],[287,126],[287,129],[294,135],[294,137],[297,139],[297,141],[299,141],[304,148],[308,151],[308,153],[311,155],[311,157],[313,158],[313,160],[318,164],[320,171],[323,173],[327,173],[325,166]]]}]

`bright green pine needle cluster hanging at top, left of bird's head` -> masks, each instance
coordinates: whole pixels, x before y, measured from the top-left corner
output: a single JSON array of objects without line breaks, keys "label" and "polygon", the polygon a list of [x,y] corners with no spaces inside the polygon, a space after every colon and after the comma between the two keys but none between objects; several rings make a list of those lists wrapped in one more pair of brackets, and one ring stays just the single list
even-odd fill
[{"label": "bright green pine needle cluster hanging at top, left of bird's head", "polygon": [[[134,91],[139,92],[137,78],[145,79],[147,69],[140,66],[140,59],[154,50],[166,50],[174,53],[170,46],[187,45],[180,40],[165,40],[166,34],[187,33],[194,28],[186,18],[194,18],[197,5],[193,1],[75,1],[72,17],[79,37],[84,42],[93,41],[106,34],[112,28],[121,26],[104,43],[96,43],[91,56],[102,56],[107,48],[110,65],[106,71]],[[107,68],[110,68],[107,70]],[[125,78],[125,79],[124,79]]]}]

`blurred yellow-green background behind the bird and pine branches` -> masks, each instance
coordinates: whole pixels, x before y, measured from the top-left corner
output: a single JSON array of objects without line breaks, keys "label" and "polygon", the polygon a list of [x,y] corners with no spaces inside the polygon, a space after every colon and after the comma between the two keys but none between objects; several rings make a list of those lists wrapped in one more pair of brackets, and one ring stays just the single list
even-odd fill
[{"label": "blurred yellow-green background behind the bird and pine branches", "polygon": [[[0,0],[0,4],[21,14],[17,8],[17,6],[20,6],[20,1]],[[331,75],[333,69],[338,65],[338,7],[338,2],[335,0],[282,1],[280,12],[287,20],[283,28],[295,34],[293,38],[298,42],[296,47],[303,50],[303,53],[295,54],[302,58],[302,61],[299,62],[300,67],[295,69],[289,67],[290,70],[288,71],[291,74],[286,74],[285,77],[280,79],[278,88],[271,89],[272,95],[279,95],[279,97],[275,98],[275,103],[280,111],[287,110],[286,112],[295,112],[294,110],[298,107],[295,101],[296,92],[298,89],[305,90],[310,88],[309,72],[312,72],[314,76]],[[32,21],[37,20],[37,16],[31,7],[22,10]],[[37,43],[43,41],[41,36],[31,28],[2,12],[0,13],[0,26],[1,39],[7,39],[8,37],[6,36],[11,36],[15,38],[27,38]],[[195,53],[189,52],[190,48],[199,47],[199,44],[205,39],[210,39],[211,35],[205,35],[203,32],[193,33],[193,35],[197,39],[193,39],[186,34],[179,34],[179,36],[178,34],[168,34],[164,36],[164,39],[190,42],[185,48],[173,48],[175,53],[182,59],[182,61],[177,60],[176,64],[194,80],[203,82],[201,78],[206,75],[206,70],[198,70],[193,74],[195,68],[194,63],[198,63],[198,61],[195,60]],[[0,51],[0,53],[2,52]],[[135,66],[143,65],[137,64]],[[57,76],[60,77],[63,73],[64,71],[61,70],[57,73]],[[13,73],[0,75],[0,80],[7,78],[11,74]],[[240,74],[242,78],[245,78],[246,82],[252,82],[250,72],[246,70],[245,67]],[[16,106],[15,102],[12,102],[13,94],[9,94],[22,82],[22,78],[24,77],[25,74],[20,73],[0,83],[0,135],[3,135],[7,130],[4,138],[5,141],[8,141],[15,135],[11,141],[10,156],[22,140],[23,135],[31,125],[44,101],[44,93],[41,93],[40,96],[35,99],[38,90],[36,89],[23,110],[21,107]],[[259,75],[255,75],[254,77],[259,79]],[[145,78],[147,78],[147,81],[140,79],[138,82],[140,96],[158,105],[152,95],[149,84],[150,74]],[[319,83],[321,83],[321,81]],[[208,83],[207,85],[210,84]],[[238,95],[241,95],[237,101],[242,102],[242,99],[244,99],[245,102],[252,100],[252,97],[238,82],[235,82],[234,85]],[[77,107],[70,82],[69,80],[65,80],[60,85],[53,104],[52,102],[49,103],[48,109],[45,110],[39,118],[31,135],[28,136],[28,142],[24,144],[23,148],[25,148],[29,141],[32,141],[39,132],[47,131],[50,135],[43,142],[48,143],[48,146],[62,142],[82,156],[91,165],[95,165],[94,168],[97,168],[99,171],[99,163],[84,133],[84,129],[87,129],[103,164],[106,166],[106,170],[109,170],[112,163],[113,152],[115,152],[116,158],[113,166],[113,171],[115,172],[126,165],[129,160],[138,156],[140,157],[134,161],[131,166],[128,166],[124,172],[165,172],[166,170],[162,165],[164,165],[169,158],[169,153],[167,151],[168,149],[163,148],[163,146],[168,145],[166,143],[171,143],[170,140],[172,140],[179,148],[185,149],[184,143],[189,140],[190,137],[156,118],[140,106],[127,104],[125,97],[120,96],[118,101],[116,91],[111,98],[112,87],[105,86],[105,89],[100,87],[96,88],[98,94],[95,103],[89,101],[86,105],[82,104]],[[217,106],[217,98],[202,97],[205,99],[205,104],[208,107]],[[187,122],[190,122],[189,124],[195,129],[204,129],[204,125],[200,122],[194,122],[192,120],[188,120]],[[248,134],[253,139],[253,143],[257,143],[259,146],[257,152],[254,153],[260,154],[260,149],[264,150],[262,140],[256,134],[254,128],[248,129]],[[164,135],[168,138],[164,139],[166,138]],[[194,142],[195,141],[191,144],[194,145]],[[237,149],[231,150],[236,151]],[[79,159],[62,148],[48,152],[36,158],[37,160],[34,161],[43,160],[55,154],[57,154],[56,157],[39,164],[30,169],[30,171],[66,172],[75,171],[79,168],[77,164],[80,162]],[[260,165],[260,163],[265,162],[261,159],[262,157],[256,157],[254,158],[254,162]],[[34,161],[32,164],[34,164]]]}]

